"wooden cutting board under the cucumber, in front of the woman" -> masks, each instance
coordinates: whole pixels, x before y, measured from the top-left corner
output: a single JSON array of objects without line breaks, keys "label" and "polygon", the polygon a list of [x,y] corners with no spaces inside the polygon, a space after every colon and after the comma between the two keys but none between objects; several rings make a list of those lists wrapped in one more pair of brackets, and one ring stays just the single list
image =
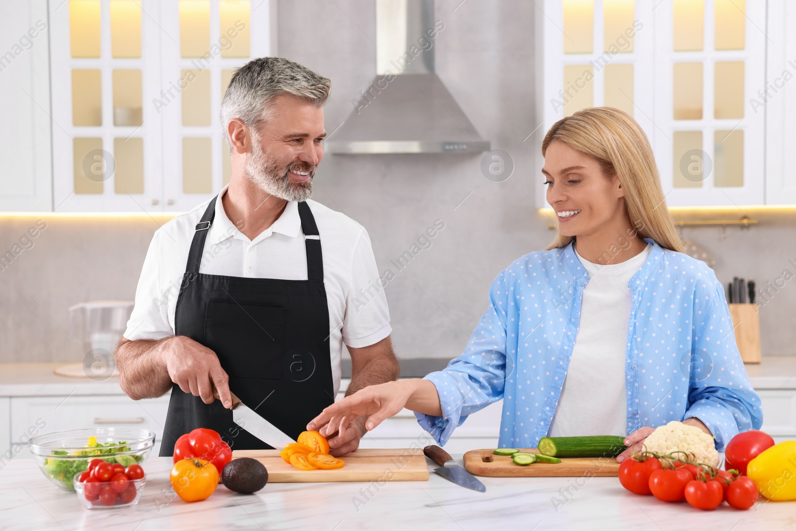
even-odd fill
[{"label": "wooden cutting board under the cucumber, in front of the woman", "polygon": [[[477,476],[490,478],[551,478],[560,476],[616,477],[619,463],[616,458],[565,457],[561,463],[533,463],[522,467],[513,463],[510,455],[493,455],[492,449],[470,450],[464,455],[464,467]],[[538,454],[536,448],[520,450]]]}]

